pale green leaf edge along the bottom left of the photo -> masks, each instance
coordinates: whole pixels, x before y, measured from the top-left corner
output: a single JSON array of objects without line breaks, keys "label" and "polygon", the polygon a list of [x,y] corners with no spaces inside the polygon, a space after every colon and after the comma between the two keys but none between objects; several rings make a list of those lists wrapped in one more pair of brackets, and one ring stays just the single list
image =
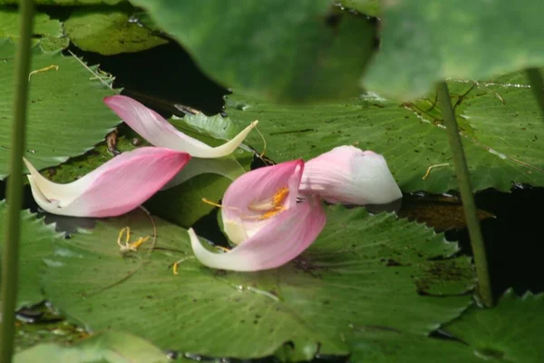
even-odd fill
[{"label": "pale green leaf edge along the bottom left of the photo", "polygon": [[105,332],[71,347],[45,343],[15,355],[15,363],[167,363],[159,348],[127,333]]}]

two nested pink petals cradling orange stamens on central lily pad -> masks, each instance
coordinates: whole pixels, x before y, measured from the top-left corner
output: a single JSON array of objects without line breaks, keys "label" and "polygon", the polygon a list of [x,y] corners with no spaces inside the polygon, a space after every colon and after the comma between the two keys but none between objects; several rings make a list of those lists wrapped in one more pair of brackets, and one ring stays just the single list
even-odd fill
[{"label": "two nested pink petals cradling orange stamens on central lily pad", "polygon": [[224,231],[237,246],[211,252],[189,229],[197,259],[214,269],[256,271],[277,268],[306,250],[325,226],[325,211],[315,196],[297,201],[303,170],[301,160],[283,162],[230,184],[221,214]]}]

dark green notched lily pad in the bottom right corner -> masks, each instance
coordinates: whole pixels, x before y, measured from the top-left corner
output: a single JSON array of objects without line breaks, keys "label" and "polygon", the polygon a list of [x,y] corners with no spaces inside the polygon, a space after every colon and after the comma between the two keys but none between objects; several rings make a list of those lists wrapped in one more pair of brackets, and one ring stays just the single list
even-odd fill
[{"label": "dark green notched lily pad in the bottom right corner", "polygon": [[543,312],[544,294],[520,298],[509,290],[495,308],[472,307],[443,328],[457,340],[375,328],[355,328],[347,340],[354,362],[536,363],[544,360]]}]

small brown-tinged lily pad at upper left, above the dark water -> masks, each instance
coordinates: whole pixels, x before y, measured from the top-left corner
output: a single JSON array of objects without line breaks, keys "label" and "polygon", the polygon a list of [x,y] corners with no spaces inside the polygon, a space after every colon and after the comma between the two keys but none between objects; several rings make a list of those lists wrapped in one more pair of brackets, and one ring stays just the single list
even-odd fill
[{"label": "small brown-tinged lily pad at upper left, above the dark water", "polygon": [[64,22],[64,32],[84,51],[104,55],[140,52],[168,40],[134,21],[130,5],[81,7]]}]

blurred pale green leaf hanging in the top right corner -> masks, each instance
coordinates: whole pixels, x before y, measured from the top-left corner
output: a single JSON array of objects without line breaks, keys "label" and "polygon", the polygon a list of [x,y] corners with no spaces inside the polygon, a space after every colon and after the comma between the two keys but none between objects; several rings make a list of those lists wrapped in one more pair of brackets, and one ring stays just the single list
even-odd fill
[{"label": "blurred pale green leaf hanging in the top right corner", "polygon": [[382,46],[364,86],[412,100],[438,80],[483,80],[544,65],[543,12],[541,1],[386,1]]}]

